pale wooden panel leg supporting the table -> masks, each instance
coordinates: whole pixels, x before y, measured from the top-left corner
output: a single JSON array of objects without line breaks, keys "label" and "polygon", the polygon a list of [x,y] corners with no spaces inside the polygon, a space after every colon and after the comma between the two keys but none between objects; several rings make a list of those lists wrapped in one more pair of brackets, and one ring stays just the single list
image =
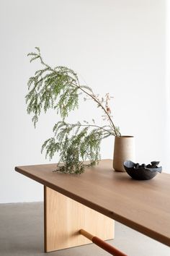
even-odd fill
[{"label": "pale wooden panel leg supporting the table", "polygon": [[86,229],[102,239],[114,238],[114,221],[53,189],[45,187],[45,252],[89,244]]}]

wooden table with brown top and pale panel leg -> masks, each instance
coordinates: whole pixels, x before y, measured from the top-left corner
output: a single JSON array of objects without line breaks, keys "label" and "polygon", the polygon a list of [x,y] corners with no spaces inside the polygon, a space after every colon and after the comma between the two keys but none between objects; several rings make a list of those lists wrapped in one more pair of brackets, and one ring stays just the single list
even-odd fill
[{"label": "wooden table with brown top and pale panel leg", "polygon": [[170,246],[169,174],[136,181],[113,171],[111,160],[81,175],[60,174],[53,172],[55,168],[15,168],[45,186],[45,252],[89,243],[79,229],[112,239],[113,220]]}]

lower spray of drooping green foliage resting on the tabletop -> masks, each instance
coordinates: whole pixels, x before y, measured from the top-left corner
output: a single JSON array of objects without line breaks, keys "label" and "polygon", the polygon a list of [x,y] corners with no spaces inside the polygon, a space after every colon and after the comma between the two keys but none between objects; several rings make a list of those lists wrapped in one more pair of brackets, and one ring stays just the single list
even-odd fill
[{"label": "lower spray of drooping green foliage resting on the tabletop", "polygon": [[[94,166],[99,161],[102,139],[112,135],[105,127],[91,129],[80,122],[68,124],[64,121],[58,121],[53,132],[54,137],[43,143],[42,150],[46,150],[50,159],[55,152],[60,152],[59,170],[70,174],[81,174],[86,166]],[[89,163],[85,164],[86,160]]]}]

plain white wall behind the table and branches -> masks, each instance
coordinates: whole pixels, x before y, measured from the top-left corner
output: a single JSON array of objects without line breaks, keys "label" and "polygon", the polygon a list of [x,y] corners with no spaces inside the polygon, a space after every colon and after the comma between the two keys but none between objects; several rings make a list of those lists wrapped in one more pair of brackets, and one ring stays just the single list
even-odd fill
[{"label": "plain white wall behind the table and branches", "polygon": [[[168,171],[165,1],[1,0],[0,27],[0,202],[42,200],[42,186],[14,171],[14,166],[49,162],[40,147],[58,120],[50,112],[34,129],[26,112],[27,80],[37,68],[26,54],[35,46],[49,64],[69,66],[96,93],[114,95],[115,122],[122,134],[135,135],[136,160],[160,160]],[[89,113],[99,115],[89,103],[73,121]],[[112,158],[112,149],[108,139],[102,158]]]}]

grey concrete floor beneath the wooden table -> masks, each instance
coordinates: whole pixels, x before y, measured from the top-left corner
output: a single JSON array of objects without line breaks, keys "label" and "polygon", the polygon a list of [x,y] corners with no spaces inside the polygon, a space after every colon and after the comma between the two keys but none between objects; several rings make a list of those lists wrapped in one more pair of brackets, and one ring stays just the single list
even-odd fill
[{"label": "grey concrete floor beneath the wooden table", "polygon": [[[170,248],[115,223],[115,239],[109,241],[129,256],[170,256]],[[0,204],[1,256],[108,256],[95,244],[43,252],[42,202]]]}]

